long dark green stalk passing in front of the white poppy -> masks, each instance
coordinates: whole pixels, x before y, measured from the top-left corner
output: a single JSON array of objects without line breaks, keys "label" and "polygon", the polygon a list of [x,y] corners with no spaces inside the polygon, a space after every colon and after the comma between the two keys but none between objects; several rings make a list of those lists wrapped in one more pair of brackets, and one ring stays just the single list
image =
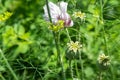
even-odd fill
[{"label": "long dark green stalk passing in front of the white poppy", "polygon": [[[52,18],[51,18],[51,14],[50,14],[50,9],[49,9],[49,5],[48,5],[48,0],[46,0],[46,5],[47,5],[47,11],[48,11],[48,15],[49,15],[49,20],[52,23]],[[58,60],[60,62],[60,66],[62,68],[62,76],[63,76],[63,80],[66,80],[66,76],[65,76],[65,71],[64,71],[64,67],[63,67],[63,63],[61,60],[61,55],[60,55],[60,49],[59,49],[59,42],[58,42],[58,34],[53,32],[53,36],[54,36],[54,40],[55,40],[55,46],[57,49],[57,53],[58,53]]]}]

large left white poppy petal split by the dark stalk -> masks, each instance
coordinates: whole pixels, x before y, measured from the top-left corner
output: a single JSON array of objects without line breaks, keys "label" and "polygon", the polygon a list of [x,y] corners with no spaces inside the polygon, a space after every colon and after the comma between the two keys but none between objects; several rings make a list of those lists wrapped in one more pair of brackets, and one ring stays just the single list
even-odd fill
[{"label": "large left white poppy petal split by the dark stalk", "polygon": [[[49,5],[50,15],[51,15],[52,21],[53,21],[53,23],[55,23],[56,20],[57,20],[57,18],[58,18],[58,16],[59,16],[60,13],[61,13],[60,8],[59,8],[57,5],[55,5],[54,3],[52,3],[52,2],[49,2],[48,5]],[[45,13],[45,14],[44,14],[44,18],[45,18],[46,20],[49,20],[48,11],[47,11],[47,6],[45,5],[45,6],[43,7],[43,9],[44,9],[44,13]]]}]

